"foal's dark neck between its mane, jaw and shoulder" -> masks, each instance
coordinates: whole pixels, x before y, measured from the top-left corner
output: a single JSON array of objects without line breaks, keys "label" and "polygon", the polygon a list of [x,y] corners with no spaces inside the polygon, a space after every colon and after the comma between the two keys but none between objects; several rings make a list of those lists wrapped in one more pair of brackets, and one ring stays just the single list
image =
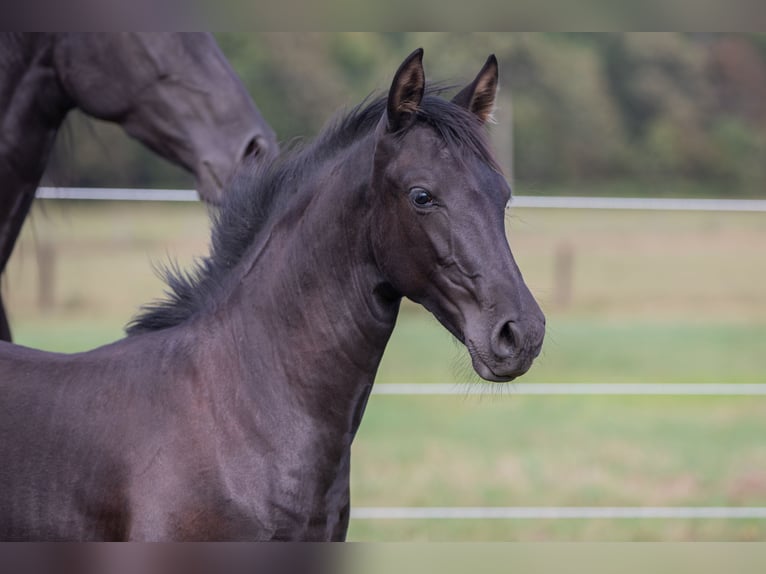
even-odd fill
[{"label": "foal's dark neck between its mane, jaw and shoulder", "polygon": [[323,162],[245,262],[236,294],[238,308],[248,310],[240,315],[244,340],[259,347],[250,371],[256,400],[264,393],[297,400],[314,420],[349,436],[399,303],[381,293],[369,241],[372,153],[368,137]]}]

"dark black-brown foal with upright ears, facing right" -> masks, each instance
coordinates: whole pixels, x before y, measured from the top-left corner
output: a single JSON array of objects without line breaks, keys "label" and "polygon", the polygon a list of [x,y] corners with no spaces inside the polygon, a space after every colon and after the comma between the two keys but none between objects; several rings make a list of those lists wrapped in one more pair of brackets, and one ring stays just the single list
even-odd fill
[{"label": "dark black-brown foal with upright ears, facing right", "polygon": [[424,81],[418,50],[386,98],[235,178],[211,254],[168,273],[126,339],[0,343],[0,539],[343,539],[351,443],[405,296],[485,379],[529,369],[545,318],[482,127],[497,62],[452,101]]}]

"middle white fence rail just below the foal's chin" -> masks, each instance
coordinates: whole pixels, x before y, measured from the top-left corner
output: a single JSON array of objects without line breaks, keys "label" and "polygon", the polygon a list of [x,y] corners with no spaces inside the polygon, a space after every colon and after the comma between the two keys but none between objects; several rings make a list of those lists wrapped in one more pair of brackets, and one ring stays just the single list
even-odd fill
[{"label": "middle white fence rail just below the foal's chin", "polygon": [[372,387],[375,395],[515,396],[515,395],[766,395],[758,383],[388,383]]}]

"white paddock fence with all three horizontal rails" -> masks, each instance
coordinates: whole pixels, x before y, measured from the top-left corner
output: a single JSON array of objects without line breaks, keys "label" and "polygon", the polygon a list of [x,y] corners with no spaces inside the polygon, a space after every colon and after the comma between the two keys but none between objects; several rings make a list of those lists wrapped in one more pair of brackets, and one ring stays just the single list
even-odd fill
[{"label": "white paddock fence with all three horizontal rails", "polygon": [[[39,199],[98,201],[196,202],[190,189],[40,187]],[[616,197],[515,196],[511,207],[534,209],[600,209],[650,211],[766,212],[766,200]],[[728,383],[511,383],[500,392],[485,385],[379,384],[373,394],[389,396],[517,395],[591,396],[764,396],[766,384]],[[766,507],[355,507],[355,520],[562,520],[562,519],[748,519],[766,520]]]}]

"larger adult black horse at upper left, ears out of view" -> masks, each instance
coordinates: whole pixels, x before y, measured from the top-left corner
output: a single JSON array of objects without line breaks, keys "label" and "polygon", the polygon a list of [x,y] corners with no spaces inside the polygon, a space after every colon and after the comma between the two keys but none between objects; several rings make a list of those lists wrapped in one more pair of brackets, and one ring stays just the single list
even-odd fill
[{"label": "larger adult black horse at upper left, ears out of view", "polygon": [[[195,174],[220,200],[244,155],[266,159],[271,128],[209,34],[0,33],[0,273],[67,113],[120,124]],[[11,334],[0,299],[0,339]]]}]

